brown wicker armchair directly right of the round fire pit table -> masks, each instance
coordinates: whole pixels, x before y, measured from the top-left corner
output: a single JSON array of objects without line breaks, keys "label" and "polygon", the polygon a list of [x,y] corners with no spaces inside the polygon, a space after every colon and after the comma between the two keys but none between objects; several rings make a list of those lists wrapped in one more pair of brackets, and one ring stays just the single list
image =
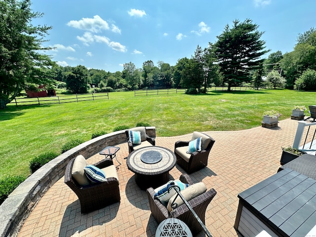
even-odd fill
[{"label": "brown wicker armchair directly right of the round fire pit table", "polygon": [[202,137],[202,150],[200,152],[186,153],[190,141],[177,141],[174,145],[177,164],[189,174],[207,166],[208,155],[215,142],[213,138],[201,132],[194,132],[191,141],[198,137]]}]

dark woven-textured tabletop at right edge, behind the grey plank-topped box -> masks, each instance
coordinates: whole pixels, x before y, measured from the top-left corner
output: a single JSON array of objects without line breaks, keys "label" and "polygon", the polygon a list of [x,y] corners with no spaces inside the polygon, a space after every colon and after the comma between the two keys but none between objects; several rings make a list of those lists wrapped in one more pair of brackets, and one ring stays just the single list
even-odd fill
[{"label": "dark woven-textured tabletop at right edge, behind the grey plank-topped box", "polygon": [[295,158],[279,167],[277,172],[285,168],[295,170],[316,180],[316,156],[314,155],[304,154],[303,156]]}]

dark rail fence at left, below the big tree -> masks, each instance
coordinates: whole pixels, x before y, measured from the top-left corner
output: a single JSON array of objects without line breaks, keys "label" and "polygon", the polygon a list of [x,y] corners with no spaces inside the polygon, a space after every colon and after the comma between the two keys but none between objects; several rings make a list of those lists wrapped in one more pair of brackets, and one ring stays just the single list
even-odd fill
[{"label": "dark rail fence at left, below the big tree", "polygon": [[10,104],[16,106],[26,105],[51,105],[63,104],[71,102],[80,102],[88,100],[102,100],[109,99],[109,93],[91,93],[91,94],[74,94],[74,95],[61,95],[61,96],[47,96],[47,97],[34,97],[34,98],[15,98]]}]

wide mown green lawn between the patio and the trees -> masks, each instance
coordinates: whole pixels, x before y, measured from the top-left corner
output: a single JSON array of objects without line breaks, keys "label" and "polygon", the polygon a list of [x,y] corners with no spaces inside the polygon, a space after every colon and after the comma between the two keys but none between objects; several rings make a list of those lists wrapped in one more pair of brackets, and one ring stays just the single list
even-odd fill
[{"label": "wide mown green lawn between the patio and the trees", "polygon": [[315,104],[315,95],[286,89],[138,97],[134,92],[111,92],[109,100],[24,107],[10,104],[0,110],[0,179],[28,176],[32,158],[47,151],[60,153],[71,139],[87,141],[93,132],[110,133],[118,125],[133,127],[146,122],[156,126],[157,136],[248,129],[261,126],[265,110],[279,111],[279,119],[290,118],[293,106]]}]

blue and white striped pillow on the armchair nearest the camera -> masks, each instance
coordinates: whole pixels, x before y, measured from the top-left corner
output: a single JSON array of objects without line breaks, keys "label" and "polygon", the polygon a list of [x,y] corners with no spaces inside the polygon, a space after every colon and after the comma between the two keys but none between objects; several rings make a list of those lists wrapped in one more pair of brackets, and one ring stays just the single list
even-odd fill
[{"label": "blue and white striped pillow on the armchair nearest the camera", "polygon": [[[169,190],[171,185],[179,186],[180,191],[189,187],[189,184],[182,183],[178,179],[177,180],[170,180],[166,184],[164,184],[164,185],[162,185],[154,190],[155,191],[154,197],[159,198],[160,201],[167,202],[173,195],[176,194],[176,191],[174,190],[174,188]],[[168,190],[169,190],[169,192],[168,192]]]}]

